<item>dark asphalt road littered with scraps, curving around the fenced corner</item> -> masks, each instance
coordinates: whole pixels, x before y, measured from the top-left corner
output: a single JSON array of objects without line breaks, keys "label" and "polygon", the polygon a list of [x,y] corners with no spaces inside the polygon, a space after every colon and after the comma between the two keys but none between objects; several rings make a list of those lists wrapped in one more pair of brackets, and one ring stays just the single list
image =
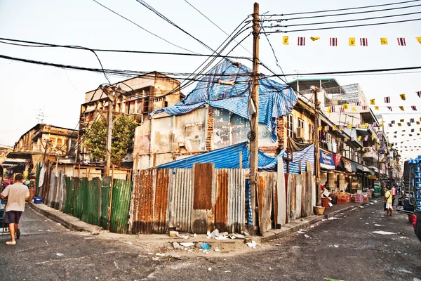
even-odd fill
[{"label": "dark asphalt road littered with scraps, curving around the fenced corner", "polygon": [[[0,235],[0,280],[421,280],[421,242],[407,217],[386,217],[382,203],[258,249],[208,256],[180,251],[180,258],[69,232],[32,209],[22,215],[21,228],[15,246]],[[394,234],[373,233],[378,230]]]}]

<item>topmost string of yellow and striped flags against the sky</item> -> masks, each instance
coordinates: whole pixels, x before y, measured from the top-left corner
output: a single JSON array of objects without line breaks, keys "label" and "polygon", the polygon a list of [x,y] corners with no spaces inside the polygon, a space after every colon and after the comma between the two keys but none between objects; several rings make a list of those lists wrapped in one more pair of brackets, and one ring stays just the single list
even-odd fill
[{"label": "topmost string of yellow and striped flags against the sky", "polygon": [[[306,37],[298,37],[297,38],[297,45],[298,46],[305,46],[305,38]],[[282,44],[283,45],[289,45],[289,40],[290,38],[288,36],[283,36],[282,37]],[[320,40],[321,37],[310,37],[310,40],[312,41],[318,41]],[[356,37],[348,37],[348,46],[364,46],[367,47],[368,46],[368,38],[366,37],[361,37],[358,38],[359,40],[357,40]],[[416,41],[418,43],[421,44],[421,37],[415,37]],[[337,47],[338,46],[338,42],[340,40],[338,40],[338,37],[330,37],[329,38],[329,45],[333,46],[333,47]],[[378,42],[378,41],[377,41]],[[406,46],[406,38],[405,37],[397,37],[396,38],[396,44],[398,46]],[[409,43],[409,41],[408,41]],[[380,37],[380,45],[389,45],[389,40],[387,39],[387,37]]]}]

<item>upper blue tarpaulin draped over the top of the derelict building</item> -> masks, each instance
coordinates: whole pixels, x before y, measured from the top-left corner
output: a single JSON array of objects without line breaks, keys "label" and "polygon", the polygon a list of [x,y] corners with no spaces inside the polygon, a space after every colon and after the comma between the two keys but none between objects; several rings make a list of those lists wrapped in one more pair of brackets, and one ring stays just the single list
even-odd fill
[{"label": "upper blue tarpaulin draped over the top of the derelict building", "polygon": [[[250,68],[225,59],[215,65],[186,98],[175,105],[161,108],[151,115],[167,112],[169,115],[184,115],[209,104],[250,119],[248,102],[252,79]],[[298,96],[286,84],[260,77],[259,123],[266,124],[276,141],[276,118],[288,115],[297,103]]]}]

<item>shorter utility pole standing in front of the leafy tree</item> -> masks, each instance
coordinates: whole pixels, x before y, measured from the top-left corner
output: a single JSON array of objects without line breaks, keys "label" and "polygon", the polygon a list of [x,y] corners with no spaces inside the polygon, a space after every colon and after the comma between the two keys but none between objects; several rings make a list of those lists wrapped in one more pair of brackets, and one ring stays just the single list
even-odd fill
[{"label": "shorter utility pole standing in front of the leafy tree", "polygon": [[111,86],[111,85],[100,86],[100,89],[109,98],[108,118],[107,118],[107,148],[105,150],[105,167],[104,167],[104,176],[109,176],[109,167],[111,166],[112,112],[114,110],[115,102],[121,94],[121,89],[116,88],[115,86]]}]

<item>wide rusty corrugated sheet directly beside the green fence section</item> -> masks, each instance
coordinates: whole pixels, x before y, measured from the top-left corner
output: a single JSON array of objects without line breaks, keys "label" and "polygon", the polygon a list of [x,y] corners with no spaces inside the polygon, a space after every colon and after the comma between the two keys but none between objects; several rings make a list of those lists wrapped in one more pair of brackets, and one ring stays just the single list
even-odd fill
[{"label": "wide rusty corrugated sheet directly beside the green fence section", "polygon": [[151,234],[154,217],[153,169],[139,170],[131,198],[131,233]]}]

